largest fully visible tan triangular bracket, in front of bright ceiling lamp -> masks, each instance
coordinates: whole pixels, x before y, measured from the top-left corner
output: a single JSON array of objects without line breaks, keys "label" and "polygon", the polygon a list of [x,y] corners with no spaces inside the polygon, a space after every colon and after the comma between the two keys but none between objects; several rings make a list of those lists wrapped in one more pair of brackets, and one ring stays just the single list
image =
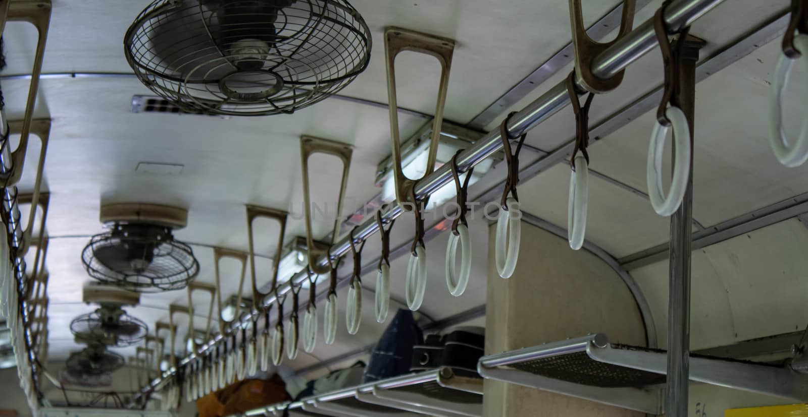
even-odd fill
[{"label": "largest fully visible tan triangular bracket, in front of bright ceiling lamp", "polygon": [[[435,119],[432,121],[432,136],[429,142],[429,156],[423,177],[435,170],[435,161],[438,154],[438,141],[440,140],[441,124],[444,119],[444,105],[449,84],[449,70],[452,67],[452,54],[454,53],[454,40],[427,35],[417,31],[410,31],[400,27],[385,29],[385,57],[387,60],[387,95],[390,110],[390,135],[393,137],[393,178],[395,180],[396,198],[399,202],[410,202],[410,190],[415,182],[421,178],[411,179],[404,175],[402,168],[401,138],[398,132],[398,101],[396,99],[396,56],[399,52],[420,52],[434,56],[440,63],[440,84],[438,85],[438,98],[435,106]],[[402,206],[411,210],[411,206]]]}]

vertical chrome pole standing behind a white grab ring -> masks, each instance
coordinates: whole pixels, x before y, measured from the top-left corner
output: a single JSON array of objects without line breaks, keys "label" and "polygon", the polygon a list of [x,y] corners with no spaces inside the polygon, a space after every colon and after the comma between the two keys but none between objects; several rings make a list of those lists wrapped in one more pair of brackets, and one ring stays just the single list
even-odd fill
[{"label": "vertical chrome pole standing behind a white grab ring", "polygon": [[[690,148],[693,149],[693,123],[696,98],[696,62],[704,42],[688,36],[680,61],[680,89],[676,101],[688,118]],[[688,416],[690,373],[690,255],[693,209],[693,159],[690,158],[688,187],[679,210],[671,215],[669,284],[667,313],[667,397],[665,415]]]}]

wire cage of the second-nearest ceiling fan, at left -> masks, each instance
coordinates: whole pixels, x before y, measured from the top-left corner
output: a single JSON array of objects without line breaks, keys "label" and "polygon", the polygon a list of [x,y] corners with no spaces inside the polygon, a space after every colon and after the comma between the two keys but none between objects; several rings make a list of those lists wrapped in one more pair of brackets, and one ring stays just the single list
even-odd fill
[{"label": "wire cage of the second-nearest ceiling fan, at left", "polygon": [[182,290],[200,269],[191,247],[169,228],[131,223],[93,236],[82,263],[95,280],[141,293]]}]

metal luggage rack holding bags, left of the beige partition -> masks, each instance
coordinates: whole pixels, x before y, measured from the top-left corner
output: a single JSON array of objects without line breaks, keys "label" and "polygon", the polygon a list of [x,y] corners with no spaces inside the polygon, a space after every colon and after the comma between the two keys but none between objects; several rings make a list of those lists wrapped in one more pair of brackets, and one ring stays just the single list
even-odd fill
[{"label": "metal luggage rack holding bags, left of the beige partition", "polygon": [[482,378],[458,377],[451,369],[440,368],[263,407],[244,415],[284,415],[284,411],[291,417],[478,417],[482,416]]}]

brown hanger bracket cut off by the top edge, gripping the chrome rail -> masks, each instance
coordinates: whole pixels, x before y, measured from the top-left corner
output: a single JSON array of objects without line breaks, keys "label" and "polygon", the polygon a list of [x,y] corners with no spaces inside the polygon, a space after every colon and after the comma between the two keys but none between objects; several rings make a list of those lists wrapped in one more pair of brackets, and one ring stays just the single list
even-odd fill
[{"label": "brown hanger bracket cut off by the top edge, gripping the chrome rail", "polygon": [[591,70],[592,60],[595,60],[595,56],[598,56],[600,52],[604,52],[631,32],[634,23],[634,10],[635,0],[623,0],[623,15],[617,37],[610,42],[601,43],[595,42],[587,35],[581,0],[570,0],[570,25],[572,27],[572,45],[575,50],[575,73],[578,74],[581,83],[591,93],[605,93],[614,90],[623,81],[625,70],[607,80],[595,76]]}]

